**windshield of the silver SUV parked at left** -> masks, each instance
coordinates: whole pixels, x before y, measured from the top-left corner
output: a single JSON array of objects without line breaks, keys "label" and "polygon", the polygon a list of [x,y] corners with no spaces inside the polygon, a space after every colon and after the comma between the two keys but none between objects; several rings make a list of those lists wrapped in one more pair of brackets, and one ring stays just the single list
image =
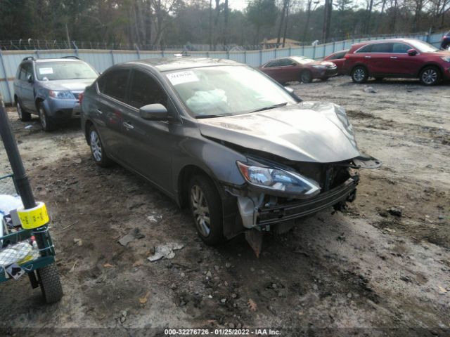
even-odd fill
[{"label": "windshield of the silver SUV parked at left", "polygon": [[59,79],[95,79],[97,73],[84,62],[41,62],[36,64],[39,81]]}]

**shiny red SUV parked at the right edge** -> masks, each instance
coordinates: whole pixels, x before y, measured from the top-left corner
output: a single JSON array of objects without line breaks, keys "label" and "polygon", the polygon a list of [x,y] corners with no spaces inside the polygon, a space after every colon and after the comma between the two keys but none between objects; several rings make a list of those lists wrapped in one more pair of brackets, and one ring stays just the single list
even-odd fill
[{"label": "shiny red SUV parked at the right edge", "polygon": [[350,48],[344,69],[355,83],[364,83],[368,77],[395,77],[418,78],[432,86],[450,79],[450,51],[415,39],[365,41]]}]

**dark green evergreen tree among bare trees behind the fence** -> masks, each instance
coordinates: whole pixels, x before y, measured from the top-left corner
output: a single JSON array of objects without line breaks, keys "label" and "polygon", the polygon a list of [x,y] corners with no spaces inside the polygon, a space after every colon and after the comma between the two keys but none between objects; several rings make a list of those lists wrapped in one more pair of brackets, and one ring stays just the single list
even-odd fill
[{"label": "dark green evergreen tree among bare trees behind the fence", "polygon": [[262,27],[272,27],[278,15],[274,0],[253,0],[247,6],[247,18],[256,27],[255,44],[259,41]]}]

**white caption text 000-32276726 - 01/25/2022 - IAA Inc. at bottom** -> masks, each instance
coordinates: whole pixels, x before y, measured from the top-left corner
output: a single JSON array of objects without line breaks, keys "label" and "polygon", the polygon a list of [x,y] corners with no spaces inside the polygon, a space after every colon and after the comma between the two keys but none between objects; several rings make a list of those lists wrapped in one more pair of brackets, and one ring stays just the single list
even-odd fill
[{"label": "white caption text 000-32276726 - 01/25/2022 - IAA Inc. at bottom", "polygon": [[165,329],[165,336],[281,336],[276,329]]}]

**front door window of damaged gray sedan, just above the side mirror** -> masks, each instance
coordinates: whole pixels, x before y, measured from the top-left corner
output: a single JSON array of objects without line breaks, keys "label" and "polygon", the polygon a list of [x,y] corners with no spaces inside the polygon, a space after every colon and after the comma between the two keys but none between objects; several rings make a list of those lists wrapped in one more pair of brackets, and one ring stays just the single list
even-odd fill
[{"label": "front door window of damaged gray sedan, just above the side mirror", "polygon": [[144,105],[160,103],[167,107],[167,95],[160,84],[145,72],[133,71],[128,104],[139,109]]}]

